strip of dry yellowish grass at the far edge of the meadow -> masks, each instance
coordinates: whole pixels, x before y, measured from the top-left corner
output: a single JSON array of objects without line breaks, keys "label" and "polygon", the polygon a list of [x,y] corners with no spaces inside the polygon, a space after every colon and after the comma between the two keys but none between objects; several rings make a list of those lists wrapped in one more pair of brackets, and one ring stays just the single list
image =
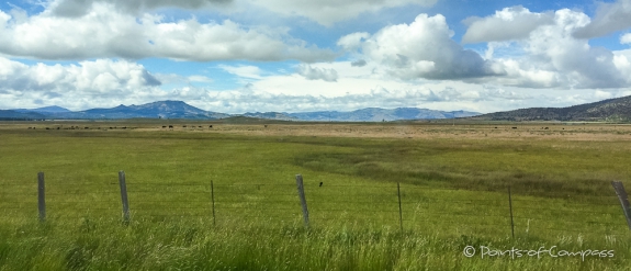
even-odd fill
[{"label": "strip of dry yellowish grass at the far edge of the meadow", "polygon": [[[172,125],[173,128],[169,128]],[[211,128],[210,125],[213,127]],[[185,126],[185,127],[184,127]],[[631,125],[600,123],[274,123],[274,124],[224,124],[218,122],[178,121],[117,121],[117,122],[4,122],[0,129],[42,131],[59,129],[84,132],[143,131],[219,133],[252,136],[317,136],[367,138],[466,138],[503,140],[631,140]],[[124,128],[123,128],[124,127]],[[516,127],[516,128],[514,128]]]}]

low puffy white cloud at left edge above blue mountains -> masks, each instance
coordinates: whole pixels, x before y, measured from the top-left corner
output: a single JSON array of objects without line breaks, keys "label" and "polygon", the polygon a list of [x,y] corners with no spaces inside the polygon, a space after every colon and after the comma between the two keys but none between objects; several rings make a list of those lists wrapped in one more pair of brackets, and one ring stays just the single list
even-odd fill
[{"label": "low puffy white cloud at left edge above blue mountains", "polygon": [[14,93],[12,100],[32,98],[55,102],[64,97],[120,99],[160,84],[142,65],[125,60],[98,59],[67,66],[40,63],[29,66],[0,57],[0,90]]}]

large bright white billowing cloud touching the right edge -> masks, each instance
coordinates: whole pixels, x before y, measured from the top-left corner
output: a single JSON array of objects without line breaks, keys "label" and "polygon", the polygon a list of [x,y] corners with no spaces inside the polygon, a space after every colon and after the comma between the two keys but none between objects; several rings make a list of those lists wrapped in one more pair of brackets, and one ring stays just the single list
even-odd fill
[{"label": "large bright white billowing cloud touching the right edge", "polygon": [[[541,13],[529,13],[542,16]],[[495,18],[495,16],[494,16]],[[486,59],[491,59],[506,76],[478,80],[504,86],[525,88],[623,88],[631,83],[622,68],[624,55],[613,54],[604,47],[593,47],[587,39],[573,33],[589,24],[582,12],[567,9],[555,11],[553,22],[538,25],[530,33],[514,42],[488,43]],[[502,31],[496,24],[488,32]],[[498,47],[499,46],[499,47]],[[502,48],[511,54],[494,56]],[[631,59],[631,58],[629,58]]]}]

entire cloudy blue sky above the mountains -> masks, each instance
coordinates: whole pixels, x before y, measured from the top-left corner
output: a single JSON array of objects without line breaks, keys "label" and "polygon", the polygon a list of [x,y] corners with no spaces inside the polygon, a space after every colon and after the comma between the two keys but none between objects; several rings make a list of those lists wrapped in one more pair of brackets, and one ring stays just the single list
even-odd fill
[{"label": "entire cloudy blue sky above the mountains", "polygon": [[0,109],[481,113],[631,95],[631,0],[12,0]]}]

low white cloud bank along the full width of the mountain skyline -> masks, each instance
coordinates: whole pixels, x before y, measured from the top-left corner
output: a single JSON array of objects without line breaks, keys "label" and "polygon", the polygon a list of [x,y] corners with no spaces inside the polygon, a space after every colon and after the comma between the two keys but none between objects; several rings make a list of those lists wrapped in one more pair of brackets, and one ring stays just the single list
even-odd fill
[{"label": "low white cloud bank along the full width of the mountain skyline", "polygon": [[[525,89],[462,81],[422,84],[388,80],[378,64],[319,63],[337,70],[338,82],[308,80],[296,74],[263,76],[245,88],[215,91],[194,86],[164,90],[147,80],[143,66],[98,59],[77,65],[24,65],[0,57],[0,109],[60,105],[71,110],[181,100],[204,110],[245,112],[351,111],[363,108],[427,108],[483,113],[531,106],[568,106],[631,93],[630,89]],[[378,69],[375,74],[375,69]],[[168,78],[160,76],[159,78]],[[206,80],[203,76],[189,79]]]}]

